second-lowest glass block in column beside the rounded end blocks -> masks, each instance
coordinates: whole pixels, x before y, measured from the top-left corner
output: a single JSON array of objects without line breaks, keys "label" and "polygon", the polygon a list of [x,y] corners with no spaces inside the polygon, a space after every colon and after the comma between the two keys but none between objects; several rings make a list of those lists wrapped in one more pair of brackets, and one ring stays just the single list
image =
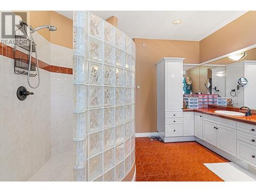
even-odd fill
[{"label": "second-lowest glass block in column beside the rounded end blocks", "polygon": [[102,144],[102,132],[97,132],[89,135],[89,155],[90,157],[102,152],[103,144]]}]

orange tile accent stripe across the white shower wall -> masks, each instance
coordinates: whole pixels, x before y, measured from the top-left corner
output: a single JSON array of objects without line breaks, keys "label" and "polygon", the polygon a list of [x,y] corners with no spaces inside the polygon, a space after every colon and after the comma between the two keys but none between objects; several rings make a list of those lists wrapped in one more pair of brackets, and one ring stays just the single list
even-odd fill
[{"label": "orange tile accent stripe across the white shower wall", "polygon": [[[26,53],[23,53],[21,51],[16,50],[16,56],[17,58],[23,58],[27,59],[28,55]],[[3,55],[5,57],[14,59],[14,49],[12,47],[9,47],[5,44],[2,44],[0,42],[0,55]],[[32,62],[36,62],[36,59],[32,57]],[[41,61],[38,59],[38,66],[40,69],[52,72],[52,73],[63,73],[63,74],[73,74],[73,69],[72,68],[66,68],[66,67],[59,67],[59,66],[52,66],[49,65],[48,63]]]}]

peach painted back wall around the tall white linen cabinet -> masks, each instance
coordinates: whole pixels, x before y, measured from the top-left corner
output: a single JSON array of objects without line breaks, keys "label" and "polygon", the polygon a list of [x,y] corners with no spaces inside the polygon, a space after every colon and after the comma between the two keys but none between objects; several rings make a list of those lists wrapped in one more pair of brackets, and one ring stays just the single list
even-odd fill
[{"label": "peach painted back wall around the tall white linen cabinet", "polygon": [[[199,63],[199,41],[134,39],[136,44],[136,133],[157,131],[156,65],[162,57],[185,57]],[[146,46],[142,44],[145,43]]]}]

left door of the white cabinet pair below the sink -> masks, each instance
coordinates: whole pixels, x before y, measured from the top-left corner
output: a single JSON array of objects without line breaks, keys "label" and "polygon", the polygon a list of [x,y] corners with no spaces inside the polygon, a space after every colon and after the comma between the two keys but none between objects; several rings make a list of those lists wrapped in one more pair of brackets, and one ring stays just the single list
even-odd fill
[{"label": "left door of the white cabinet pair below the sink", "polygon": [[203,140],[217,146],[217,130],[215,127],[215,123],[203,121]]}]

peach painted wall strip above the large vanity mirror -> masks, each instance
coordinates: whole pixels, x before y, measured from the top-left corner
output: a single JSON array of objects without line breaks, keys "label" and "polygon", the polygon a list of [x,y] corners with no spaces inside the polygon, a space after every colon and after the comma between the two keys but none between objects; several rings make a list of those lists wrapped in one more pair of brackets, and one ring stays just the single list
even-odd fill
[{"label": "peach painted wall strip above the large vanity mirror", "polygon": [[256,11],[249,11],[200,41],[200,62],[256,44]]}]

